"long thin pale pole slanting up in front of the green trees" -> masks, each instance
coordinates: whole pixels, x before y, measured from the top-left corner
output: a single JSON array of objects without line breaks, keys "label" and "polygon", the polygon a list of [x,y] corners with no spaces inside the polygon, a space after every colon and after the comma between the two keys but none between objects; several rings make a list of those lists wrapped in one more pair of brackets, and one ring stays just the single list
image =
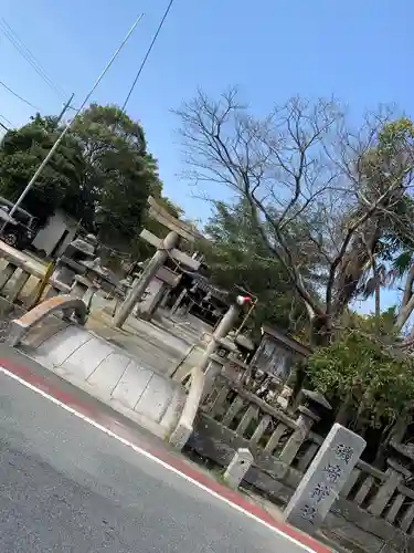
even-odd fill
[{"label": "long thin pale pole slanting up in front of the green trees", "polygon": [[[53,154],[56,152],[59,145],[61,144],[61,142],[63,140],[63,138],[65,137],[65,135],[67,134],[67,132],[71,129],[74,121],[76,119],[76,117],[79,115],[79,113],[82,112],[82,109],[84,108],[84,106],[87,104],[87,102],[89,101],[91,96],[93,95],[93,93],[95,92],[96,87],[98,86],[98,84],[100,83],[100,81],[104,79],[104,76],[106,75],[106,73],[108,72],[109,67],[113,65],[113,63],[115,62],[116,58],[118,56],[119,52],[123,50],[123,48],[125,46],[125,44],[127,43],[127,41],[129,40],[130,35],[132,34],[132,32],[135,31],[136,27],[138,25],[138,23],[140,22],[140,20],[142,19],[144,17],[144,13],[141,13],[139,15],[139,18],[136,20],[136,22],[134,23],[134,25],[130,28],[130,30],[128,31],[127,35],[125,36],[125,39],[123,40],[123,42],[120,43],[120,45],[117,48],[117,50],[115,51],[114,55],[112,56],[112,59],[109,60],[109,62],[106,64],[104,71],[100,73],[100,75],[98,76],[98,79],[95,81],[95,84],[93,85],[93,87],[91,88],[91,91],[88,92],[88,94],[86,95],[85,100],[82,102],[81,104],[81,107],[78,109],[76,109],[76,113],[74,115],[74,117],[67,122],[66,126],[64,127],[64,129],[62,131],[62,133],[60,134],[60,136],[56,138],[56,142],[53,144],[52,148],[49,150],[49,154],[46,155],[46,157],[43,159],[43,161],[40,164],[40,166],[38,167],[38,170],[34,173],[33,177],[30,179],[30,181],[28,182],[26,187],[24,188],[24,190],[22,191],[22,194],[20,195],[20,197],[18,198],[17,202],[14,204],[14,206],[11,208],[10,212],[9,212],[9,217],[13,217],[14,212],[17,211],[17,209],[19,208],[20,204],[24,200],[24,198],[26,197],[26,195],[29,194],[30,189],[33,187],[33,185],[36,182],[38,178],[40,177],[40,175],[42,174],[43,169],[45,168],[45,166],[49,164],[49,161],[51,160]],[[3,232],[4,228],[6,228],[6,225],[7,225],[7,221],[2,225],[1,227],[1,231],[0,233]]]}]

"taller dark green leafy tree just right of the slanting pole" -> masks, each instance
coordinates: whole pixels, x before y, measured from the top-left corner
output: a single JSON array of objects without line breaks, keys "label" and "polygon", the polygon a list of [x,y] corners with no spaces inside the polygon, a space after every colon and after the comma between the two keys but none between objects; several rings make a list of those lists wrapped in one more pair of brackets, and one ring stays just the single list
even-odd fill
[{"label": "taller dark green leafy tree just right of the slanting pole", "polygon": [[83,186],[95,195],[95,223],[106,243],[128,247],[142,223],[147,198],[161,187],[144,129],[117,106],[92,104],[72,136],[82,149]]}]

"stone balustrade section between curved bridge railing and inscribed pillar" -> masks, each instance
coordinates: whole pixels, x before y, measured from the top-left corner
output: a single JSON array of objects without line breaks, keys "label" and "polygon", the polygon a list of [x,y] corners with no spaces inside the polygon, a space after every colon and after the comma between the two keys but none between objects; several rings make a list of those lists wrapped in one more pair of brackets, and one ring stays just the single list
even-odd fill
[{"label": "stone balustrade section between curved bridge railing and inscribed pillar", "polygon": [[310,437],[319,417],[309,408],[300,406],[296,418],[291,418],[225,373],[204,397],[201,414],[200,428],[204,425],[210,430],[212,444],[222,436],[222,441],[231,445],[229,449],[222,447],[216,455],[211,451],[223,465],[233,456],[234,448],[248,448],[257,466],[278,476],[291,472],[297,474],[297,481],[299,471],[307,469],[319,448]]}]

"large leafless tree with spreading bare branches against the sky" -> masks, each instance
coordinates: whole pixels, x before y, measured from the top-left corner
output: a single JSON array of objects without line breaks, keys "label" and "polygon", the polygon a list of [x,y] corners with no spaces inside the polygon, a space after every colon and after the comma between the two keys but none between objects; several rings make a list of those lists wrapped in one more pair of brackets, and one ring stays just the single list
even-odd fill
[{"label": "large leafless tree with spreading bare branches against the sky", "polygon": [[[257,118],[235,90],[219,101],[200,91],[176,113],[187,177],[224,185],[248,201],[269,255],[307,306],[315,340],[325,341],[355,296],[385,229],[403,225],[397,207],[412,185],[414,158],[401,144],[404,155],[379,150],[390,114],[368,115],[355,131],[335,101],[294,97]],[[309,258],[318,294],[301,270]],[[411,303],[405,309],[413,310]]]}]

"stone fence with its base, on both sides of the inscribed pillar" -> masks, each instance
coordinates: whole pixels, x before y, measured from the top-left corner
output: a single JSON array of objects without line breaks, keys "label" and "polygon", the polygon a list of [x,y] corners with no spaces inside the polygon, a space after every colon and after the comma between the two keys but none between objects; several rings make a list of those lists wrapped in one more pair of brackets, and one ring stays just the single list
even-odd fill
[{"label": "stone fence with its base, on both sides of the inscribed pillar", "polygon": [[[223,371],[203,398],[188,447],[223,469],[237,450],[248,449],[254,461],[244,482],[287,504],[323,444],[314,431],[318,419],[309,397],[289,416]],[[411,472],[393,459],[384,471],[358,461],[326,519],[327,532],[358,551],[414,551],[410,486]]]}]

